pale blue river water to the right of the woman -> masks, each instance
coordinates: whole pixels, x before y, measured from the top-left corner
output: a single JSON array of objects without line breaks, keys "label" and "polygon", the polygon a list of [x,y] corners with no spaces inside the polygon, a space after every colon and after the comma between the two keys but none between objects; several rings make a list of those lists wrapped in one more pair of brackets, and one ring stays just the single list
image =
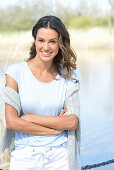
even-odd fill
[{"label": "pale blue river water to the right of the woman", "polygon": [[[4,66],[2,63],[1,72]],[[80,51],[76,72],[80,80],[81,164],[114,159],[113,53]],[[114,164],[96,168],[113,169]]]}]

